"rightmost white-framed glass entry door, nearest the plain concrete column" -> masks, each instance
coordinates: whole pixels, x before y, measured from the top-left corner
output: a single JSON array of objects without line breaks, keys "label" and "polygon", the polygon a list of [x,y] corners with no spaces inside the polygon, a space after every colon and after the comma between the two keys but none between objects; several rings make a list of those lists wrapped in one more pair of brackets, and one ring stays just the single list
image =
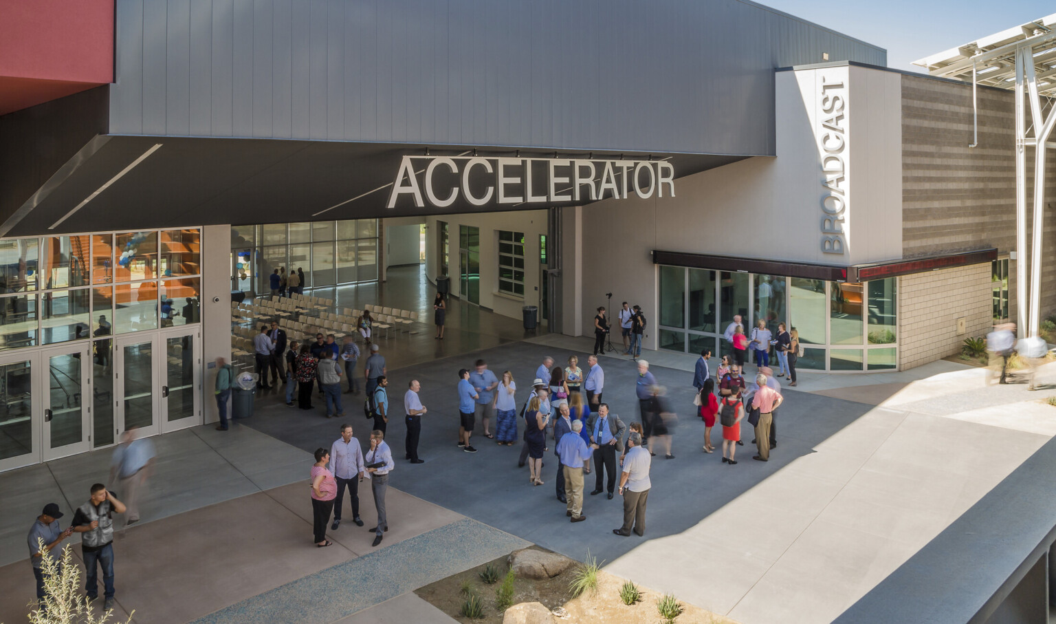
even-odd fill
[{"label": "rightmost white-framed glass entry door, nearest the plain concrete column", "polygon": [[163,333],[158,354],[164,356],[161,379],[162,432],[202,424],[202,353],[197,326]]}]

